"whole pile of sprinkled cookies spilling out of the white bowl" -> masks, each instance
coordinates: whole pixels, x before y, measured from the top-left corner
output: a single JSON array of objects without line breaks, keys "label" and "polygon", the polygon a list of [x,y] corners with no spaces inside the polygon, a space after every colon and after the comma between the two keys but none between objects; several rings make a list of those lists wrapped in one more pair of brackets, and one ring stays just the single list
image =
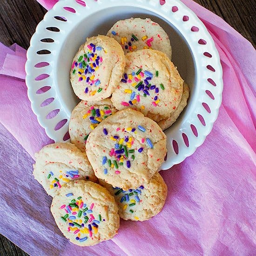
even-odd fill
[{"label": "whole pile of sprinkled cookies spilling out of the white bowl", "polygon": [[36,154],[34,176],[53,196],[62,233],[80,246],[111,239],[119,218],[158,214],[167,186],[158,173],[166,135],[189,88],[171,59],[168,35],[150,19],[120,20],[88,38],[74,57],[71,84],[82,100],[69,123],[71,143]]}]

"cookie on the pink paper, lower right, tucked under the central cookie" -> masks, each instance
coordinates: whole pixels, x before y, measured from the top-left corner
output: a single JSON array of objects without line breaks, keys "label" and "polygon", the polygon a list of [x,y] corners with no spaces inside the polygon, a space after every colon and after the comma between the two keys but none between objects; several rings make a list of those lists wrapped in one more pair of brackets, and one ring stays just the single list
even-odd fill
[{"label": "cookie on the pink paper, lower right, tucked under the central cookie", "polygon": [[167,185],[159,173],[137,189],[113,188],[103,180],[100,184],[115,197],[118,214],[124,220],[145,221],[152,218],[162,210],[167,197]]}]

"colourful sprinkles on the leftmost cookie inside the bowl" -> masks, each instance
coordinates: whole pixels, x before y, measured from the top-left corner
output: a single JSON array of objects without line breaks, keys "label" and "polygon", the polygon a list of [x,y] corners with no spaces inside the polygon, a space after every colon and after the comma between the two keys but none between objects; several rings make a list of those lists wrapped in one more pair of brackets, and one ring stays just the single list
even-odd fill
[{"label": "colourful sprinkles on the leftmost cookie inside the bowl", "polygon": [[[93,43],[90,43],[87,48],[88,52],[79,56],[78,60],[72,63],[72,74],[78,74],[78,81],[86,81],[89,86],[100,86],[101,81],[95,79],[95,71],[100,67],[103,61],[101,56],[103,48],[100,46],[96,47]],[[103,50],[103,52],[105,51]],[[89,87],[86,87],[84,90],[85,94],[90,93],[91,95],[94,95],[96,92],[100,93],[101,91],[102,88],[89,91]]]}]

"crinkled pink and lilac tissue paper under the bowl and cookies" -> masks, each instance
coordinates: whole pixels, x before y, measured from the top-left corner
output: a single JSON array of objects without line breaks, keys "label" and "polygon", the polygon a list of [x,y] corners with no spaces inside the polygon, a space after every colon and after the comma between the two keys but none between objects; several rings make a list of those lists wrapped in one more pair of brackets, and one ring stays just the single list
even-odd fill
[{"label": "crinkled pink and lilac tissue paper under the bowl and cookies", "polygon": [[[47,9],[56,2],[38,1]],[[30,255],[255,255],[255,49],[215,14],[182,2],[208,28],[221,57],[219,116],[193,155],[161,172],[168,185],[162,212],[146,222],[121,221],[111,241],[86,249],[62,236],[51,197],[32,175],[34,153],[53,141],[27,98],[26,50],[0,44],[0,233]]]}]

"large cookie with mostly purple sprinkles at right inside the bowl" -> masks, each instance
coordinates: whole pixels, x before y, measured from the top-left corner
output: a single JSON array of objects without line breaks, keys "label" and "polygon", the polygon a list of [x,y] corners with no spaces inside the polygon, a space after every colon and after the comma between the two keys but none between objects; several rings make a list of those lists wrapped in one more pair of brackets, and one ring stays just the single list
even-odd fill
[{"label": "large cookie with mostly purple sprinkles at right inside the bowl", "polygon": [[139,50],[126,54],[126,67],[112,94],[115,108],[134,108],[154,121],[168,118],[182,98],[183,80],[166,54]]}]

